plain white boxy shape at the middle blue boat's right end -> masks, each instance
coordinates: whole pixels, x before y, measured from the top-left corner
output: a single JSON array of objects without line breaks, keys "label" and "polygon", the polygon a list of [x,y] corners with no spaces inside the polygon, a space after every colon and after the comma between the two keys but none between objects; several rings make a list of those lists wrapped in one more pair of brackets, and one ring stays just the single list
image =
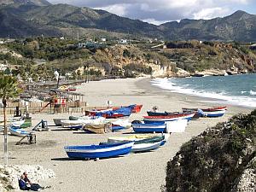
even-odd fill
[{"label": "plain white boxy shape at the middle blue boat's right end", "polygon": [[188,125],[188,119],[166,121],[166,132],[184,132]]}]

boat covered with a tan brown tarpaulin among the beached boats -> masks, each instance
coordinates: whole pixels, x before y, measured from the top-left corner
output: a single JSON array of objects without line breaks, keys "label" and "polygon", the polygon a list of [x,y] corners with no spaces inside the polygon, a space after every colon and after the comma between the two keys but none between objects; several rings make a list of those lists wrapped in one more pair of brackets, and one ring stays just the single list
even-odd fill
[{"label": "boat covered with a tan brown tarpaulin among the beached boats", "polygon": [[107,132],[111,132],[112,126],[111,126],[111,123],[104,123],[104,124],[99,124],[99,125],[87,124],[87,125],[84,125],[83,129],[84,129],[84,131],[88,131],[91,133],[104,134]]}]

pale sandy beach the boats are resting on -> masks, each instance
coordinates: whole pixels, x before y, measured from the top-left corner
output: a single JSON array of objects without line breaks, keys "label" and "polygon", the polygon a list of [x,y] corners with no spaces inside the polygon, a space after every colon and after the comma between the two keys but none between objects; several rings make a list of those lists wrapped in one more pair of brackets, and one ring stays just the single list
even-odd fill
[{"label": "pale sandy beach the boats are resting on", "polygon": [[[207,108],[220,105],[206,102],[195,96],[160,90],[150,84],[150,79],[108,79],[90,82],[80,86],[79,92],[85,95],[89,106],[143,104],[140,113],[132,113],[130,121],[143,119],[146,111],[158,106],[160,111],[181,111],[181,108]],[[205,101],[205,102],[204,102]],[[236,113],[249,113],[251,109],[228,106],[224,117],[218,119],[202,118],[189,122],[183,133],[171,134],[162,148],[150,153],[128,154],[124,157],[106,160],[69,160],[63,147],[70,145],[97,144],[107,142],[109,136],[122,132],[104,135],[86,134],[82,131],[67,131],[50,126],[50,131],[37,132],[37,143],[34,145],[16,146],[19,137],[9,136],[9,164],[41,165],[52,169],[56,177],[42,181],[42,185],[51,185],[44,191],[160,191],[166,179],[166,163],[171,160],[179,148],[218,122],[225,121]],[[70,114],[32,114],[32,125],[40,119],[54,125],[54,118],[68,118]],[[81,114],[76,114],[81,115]],[[126,132],[131,132],[129,129]],[[3,151],[3,134],[0,136]],[[3,155],[3,154],[2,154]],[[1,159],[0,164],[3,164]]]}]

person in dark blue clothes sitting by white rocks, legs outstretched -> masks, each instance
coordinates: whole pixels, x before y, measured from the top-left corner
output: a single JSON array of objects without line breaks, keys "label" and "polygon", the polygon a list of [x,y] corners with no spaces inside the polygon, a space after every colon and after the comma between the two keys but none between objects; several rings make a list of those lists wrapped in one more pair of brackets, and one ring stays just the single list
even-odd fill
[{"label": "person in dark blue clothes sitting by white rocks, legs outstretched", "polygon": [[19,186],[21,190],[34,190],[38,191],[41,189],[45,189],[41,187],[38,183],[32,183],[29,178],[27,177],[27,173],[23,172],[19,179]]}]

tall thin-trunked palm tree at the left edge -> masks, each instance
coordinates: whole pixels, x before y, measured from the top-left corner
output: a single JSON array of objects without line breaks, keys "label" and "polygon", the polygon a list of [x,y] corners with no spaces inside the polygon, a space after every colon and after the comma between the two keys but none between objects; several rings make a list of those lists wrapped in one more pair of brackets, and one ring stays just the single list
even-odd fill
[{"label": "tall thin-trunked palm tree at the left edge", "polygon": [[4,160],[5,160],[5,166],[8,166],[8,153],[7,153],[7,113],[6,113],[6,107],[7,107],[7,100],[9,98],[18,96],[20,90],[17,86],[17,79],[6,76],[6,75],[0,75],[0,98],[2,98],[3,102],[3,120],[4,120]]}]

